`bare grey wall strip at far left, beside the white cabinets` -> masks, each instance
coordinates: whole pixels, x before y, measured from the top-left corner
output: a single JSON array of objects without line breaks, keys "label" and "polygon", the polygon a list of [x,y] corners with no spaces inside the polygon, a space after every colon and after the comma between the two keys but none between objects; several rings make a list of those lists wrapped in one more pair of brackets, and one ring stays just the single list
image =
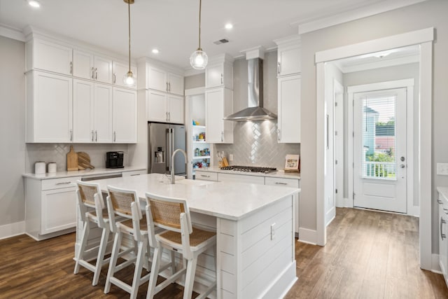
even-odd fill
[{"label": "bare grey wall strip at far left, beside the white cabinets", "polygon": [[25,220],[25,43],[0,36],[0,227]]}]

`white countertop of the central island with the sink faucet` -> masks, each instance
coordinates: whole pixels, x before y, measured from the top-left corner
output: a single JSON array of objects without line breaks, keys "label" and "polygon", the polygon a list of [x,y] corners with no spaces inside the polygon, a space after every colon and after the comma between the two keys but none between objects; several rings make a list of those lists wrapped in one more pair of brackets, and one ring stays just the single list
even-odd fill
[{"label": "white countertop of the central island with the sink faucet", "polygon": [[283,197],[300,192],[299,188],[284,186],[183,178],[179,178],[179,181],[176,180],[172,185],[165,174],[124,176],[90,182],[99,183],[104,191],[108,185],[136,190],[140,200],[145,200],[145,193],[149,190],[162,196],[184,198],[190,211],[235,221],[268,207]]}]

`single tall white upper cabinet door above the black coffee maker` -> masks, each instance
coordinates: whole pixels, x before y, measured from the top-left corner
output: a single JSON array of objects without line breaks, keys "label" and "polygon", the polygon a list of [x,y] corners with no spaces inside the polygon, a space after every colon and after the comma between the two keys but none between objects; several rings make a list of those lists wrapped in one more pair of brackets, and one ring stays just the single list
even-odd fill
[{"label": "single tall white upper cabinet door above the black coffee maker", "polygon": [[137,143],[137,92],[113,88],[113,142]]}]

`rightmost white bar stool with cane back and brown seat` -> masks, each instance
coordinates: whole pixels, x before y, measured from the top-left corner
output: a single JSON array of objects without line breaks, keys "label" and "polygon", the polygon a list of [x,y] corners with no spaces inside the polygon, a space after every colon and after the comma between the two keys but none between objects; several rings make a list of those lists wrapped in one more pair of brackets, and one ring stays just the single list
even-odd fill
[{"label": "rightmost white bar stool with cane back and brown seat", "polygon": [[[190,299],[193,293],[193,282],[195,281],[197,256],[216,245],[216,232],[193,228],[186,200],[146,193],[146,203],[148,231],[151,235],[149,242],[150,244],[155,243],[151,244],[155,249],[146,298],[152,299],[156,293],[159,293],[168,284],[186,274],[183,299]],[[167,231],[154,235],[153,228],[155,226]],[[183,268],[156,286],[158,274],[161,270],[162,248],[181,253],[183,255]],[[197,298],[206,298],[215,288],[216,280]]]}]

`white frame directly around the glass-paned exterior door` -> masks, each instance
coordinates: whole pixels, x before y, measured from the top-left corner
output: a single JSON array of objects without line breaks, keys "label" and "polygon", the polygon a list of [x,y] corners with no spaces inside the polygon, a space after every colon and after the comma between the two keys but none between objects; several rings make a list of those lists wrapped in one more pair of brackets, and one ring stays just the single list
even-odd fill
[{"label": "white frame directly around the glass-paned exterior door", "polygon": [[[419,216],[419,207],[414,207],[414,79],[402,79],[395,81],[386,81],[386,82],[378,82],[378,83],[370,83],[363,85],[353,85],[347,86],[347,102],[349,106],[349,111],[347,113],[347,132],[353,132],[353,95],[357,92],[369,92],[375,90],[389,90],[396,88],[406,88],[406,164],[407,164],[407,176],[406,176],[406,205],[407,205],[407,215]],[[351,101],[351,105],[350,105]],[[353,207],[353,190],[354,183],[353,180],[353,167],[349,167],[349,165],[353,165],[353,134],[349,135],[349,146],[347,148],[349,158],[347,161],[348,167],[348,180],[349,180],[349,204],[350,207]],[[412,161],[411,163],[408,163]],[[410,182],[410,183],[409,183]],[[351,199],[350,199],[351,197]]]}]

